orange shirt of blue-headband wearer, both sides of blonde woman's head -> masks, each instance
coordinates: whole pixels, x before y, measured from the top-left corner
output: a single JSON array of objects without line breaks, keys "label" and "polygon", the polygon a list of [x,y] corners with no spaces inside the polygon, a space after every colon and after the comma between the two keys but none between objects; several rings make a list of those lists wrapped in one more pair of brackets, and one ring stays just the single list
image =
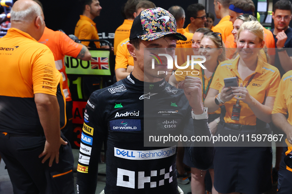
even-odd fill
[{"label": "orange shirt of blue-headband wearer, both sides of blonde woman's head", "polygon": [[[273,33],[269,30],[267,30],[266,28],[264,29],[264,40],[265,40],[265,46],[268,48],[268,55],[275,55],[275,39],[273,37]],[[237,45],[234,42],[234,35],[230,34],[229,36],[227,36],[226,40],[225,40],[225,48],[236,48]],[[226,58],[227,59],[231,59],[234,52],[236,51],[236,49],[227,49],[226,51]]]}]

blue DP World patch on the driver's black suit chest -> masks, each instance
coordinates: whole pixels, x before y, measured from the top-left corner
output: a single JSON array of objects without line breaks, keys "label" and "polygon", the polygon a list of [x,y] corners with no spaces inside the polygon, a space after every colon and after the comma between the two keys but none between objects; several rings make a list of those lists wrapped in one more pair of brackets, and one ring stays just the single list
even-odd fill
[{"label": "blue DP World patch on the driver's black suit chest", "polygon": [[141,130],[140,119],[117,119],[110,121],[110,130],[139,131]]}]

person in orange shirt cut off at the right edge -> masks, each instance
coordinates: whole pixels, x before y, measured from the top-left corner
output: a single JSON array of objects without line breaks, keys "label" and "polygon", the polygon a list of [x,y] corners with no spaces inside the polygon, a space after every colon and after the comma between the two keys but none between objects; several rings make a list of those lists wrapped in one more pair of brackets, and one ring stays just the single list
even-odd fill
[{"label": "person in orange shirt cut off at the right edge", "polygon": [[[287,138],[284,142],[282,160],[278,172],[278,192],[277,194],[292,193],[292,168],[288,167],[284,162],[284,157],[292,151],[292,71],[288,71],[282,77],[280,82],[275,104],[272,112],[272,120],[274,125],[282,129]],[[286,118],[289,114],[288,119]],[[280,137],[280,136],[279,136]]]}]

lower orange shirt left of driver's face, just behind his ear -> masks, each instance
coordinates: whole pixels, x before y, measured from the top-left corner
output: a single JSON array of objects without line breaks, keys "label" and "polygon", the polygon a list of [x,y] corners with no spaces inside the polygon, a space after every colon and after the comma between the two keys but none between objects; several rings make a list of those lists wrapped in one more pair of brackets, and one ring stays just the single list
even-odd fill
[{"label": "lower orange shirt left of driver's face, just behind his ear", "polygon": [[127,43],[129,41],[130,39],[126,38],[118,45],[115,70],[117,70],[118,68],[126,69],[128,65],[134,66],[134,59],[127,49]]}]

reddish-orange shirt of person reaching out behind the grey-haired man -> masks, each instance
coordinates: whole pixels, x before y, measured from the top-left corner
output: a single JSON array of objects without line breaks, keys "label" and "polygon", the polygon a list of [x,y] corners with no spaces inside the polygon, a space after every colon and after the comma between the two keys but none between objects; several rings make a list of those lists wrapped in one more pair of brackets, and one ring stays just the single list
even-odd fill
[{"label": "reddish-orange shirt of person reaching out behind the grey-haired man", "polygon": [[48,46],[53,52],[56,68],[60,71],[63,77],[63,93],[66,97],[66,101],[71,101],[72,98],[69,91],[64,58],[65,55],[76,58],[83,45],[74,42],[63,32],[52,31],[46,27],[39,42]]}]

